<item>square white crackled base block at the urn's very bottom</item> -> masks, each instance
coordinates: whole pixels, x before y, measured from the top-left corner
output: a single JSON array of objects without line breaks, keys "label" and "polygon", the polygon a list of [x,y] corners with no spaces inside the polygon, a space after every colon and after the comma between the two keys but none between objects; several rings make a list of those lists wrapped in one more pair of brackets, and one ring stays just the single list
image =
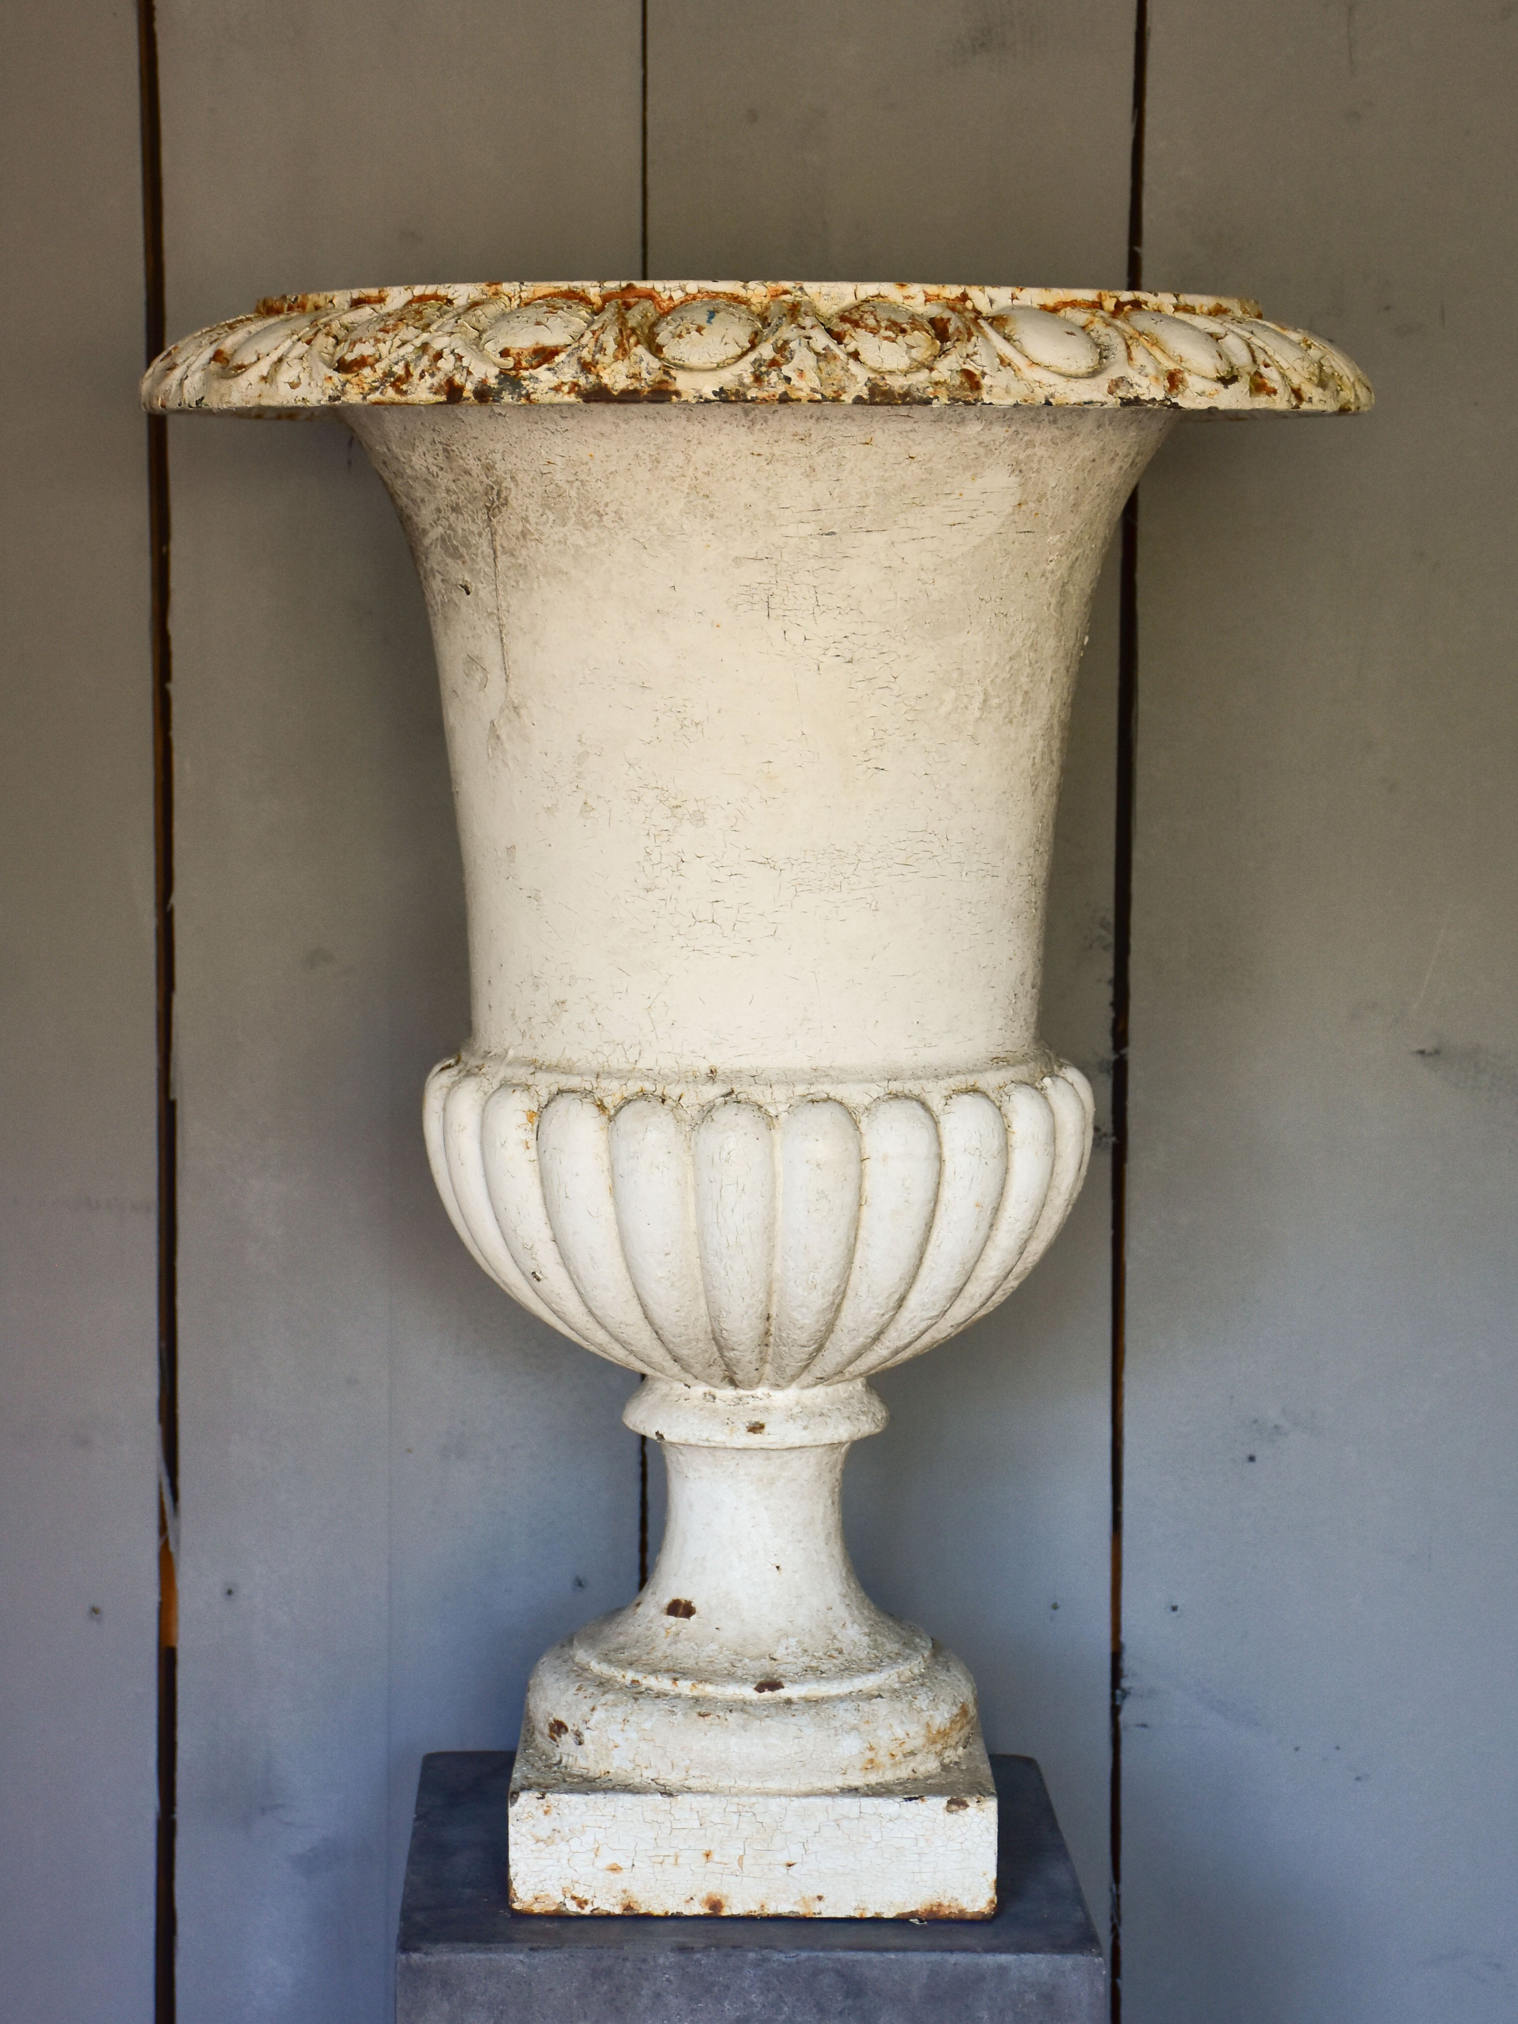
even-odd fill
[{"label": "square white crackled base block at the urn's very bottom", "polygon": [[895,1793],[617,1791],[512,1779],[512,1905],[654,1917],[988,1919],[990,1763]]}]

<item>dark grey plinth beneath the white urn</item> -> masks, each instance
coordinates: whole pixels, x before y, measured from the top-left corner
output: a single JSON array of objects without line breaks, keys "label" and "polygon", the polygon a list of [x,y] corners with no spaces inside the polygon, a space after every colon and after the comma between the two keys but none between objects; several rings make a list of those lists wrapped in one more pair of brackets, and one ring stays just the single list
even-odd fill
[{"label": "dark grey plinth beneath the white urn", "polygon": [[397,2024],[1101,2024],[1101,1947],[1038,1765],[992,1769],[994,1919],[542,1919],[506,1903],[512,1753],[425,1757]]}]

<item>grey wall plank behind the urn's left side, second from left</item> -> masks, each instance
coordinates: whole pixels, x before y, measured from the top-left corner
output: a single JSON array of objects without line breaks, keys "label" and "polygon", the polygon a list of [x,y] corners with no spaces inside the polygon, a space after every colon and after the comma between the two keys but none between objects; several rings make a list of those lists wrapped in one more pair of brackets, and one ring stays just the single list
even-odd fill
[{"label": "grey wall plank behind the urn's left side, second from left", "polygon": [[[638,267],[638,8],[160,4],[168,320]],[[387,2014],[427,1749],[636,1587],[625,1372],[459,1251],[468,1034],[421,593],[346,431],[178,429],[180,2020]],[[470,1259],[466,1257],[468,1265]]]}]

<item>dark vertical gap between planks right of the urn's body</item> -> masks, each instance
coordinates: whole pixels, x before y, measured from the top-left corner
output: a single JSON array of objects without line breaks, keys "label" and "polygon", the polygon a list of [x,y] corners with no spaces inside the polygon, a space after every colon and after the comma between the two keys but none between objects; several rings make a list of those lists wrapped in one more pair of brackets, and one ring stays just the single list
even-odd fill
[{"label": "dark vertical gap between planks right of the urn's body", "polygon": [[[1127,166],[1127,285],[1144,287],[1144,109],[1150,71],[1150,6],[1133,8],[1133,125]],[[1113,848],[1111,980],[1111,1737],[1107,1826],[1111,1846],[1109,2004],[1123,2016],[1123,1409],[1127,1384],[1127,1046],[1133,980],[1133,816],[1137,767],[1137,490],[1123,506],[1117,619],[1117,783]]]}]

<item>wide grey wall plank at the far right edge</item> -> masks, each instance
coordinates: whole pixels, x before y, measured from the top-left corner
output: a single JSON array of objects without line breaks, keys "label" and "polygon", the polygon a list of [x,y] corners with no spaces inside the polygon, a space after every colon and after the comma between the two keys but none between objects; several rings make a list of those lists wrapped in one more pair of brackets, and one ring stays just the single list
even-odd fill
[{"label": "wide grey wall plank at the far right edge", "polygon": [[1518,20],[1152,22],[1146,273],[1332,332],[1378,407],[1142,488],[1125,2018],[1498,2024]]}]

